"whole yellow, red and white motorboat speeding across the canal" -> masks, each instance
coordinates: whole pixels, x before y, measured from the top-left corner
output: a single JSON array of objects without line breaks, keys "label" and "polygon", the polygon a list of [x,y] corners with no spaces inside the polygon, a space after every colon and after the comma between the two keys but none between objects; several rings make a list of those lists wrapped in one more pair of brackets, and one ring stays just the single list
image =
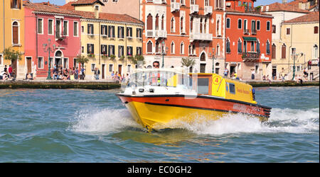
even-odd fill
[{"label": "whole yellow, red and white motorboat speeding across the canal", "polygon": [[148,131],[170,128],[174,120],[203,116],[217,120],[226,113],[266,121],[272,109],[257,104],[249,84],[218,74],[186,74],[182,69],[137,69],[117,96]]}]

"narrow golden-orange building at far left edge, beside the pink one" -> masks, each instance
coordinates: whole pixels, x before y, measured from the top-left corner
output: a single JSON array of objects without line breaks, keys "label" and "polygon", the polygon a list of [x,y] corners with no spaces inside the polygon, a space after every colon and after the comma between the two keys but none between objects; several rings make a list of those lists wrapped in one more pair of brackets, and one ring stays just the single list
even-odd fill
[{"label": "narrow golden-orange building at far left edge, beside the pink one", "polygon": [[[22,0],[0,0],[0,71],[11,64],[18,79],[26,74],[24,58],[24,9]],[[11,47],[21,52],[21,60],[14,63],[4,59],[3,51]]]}]

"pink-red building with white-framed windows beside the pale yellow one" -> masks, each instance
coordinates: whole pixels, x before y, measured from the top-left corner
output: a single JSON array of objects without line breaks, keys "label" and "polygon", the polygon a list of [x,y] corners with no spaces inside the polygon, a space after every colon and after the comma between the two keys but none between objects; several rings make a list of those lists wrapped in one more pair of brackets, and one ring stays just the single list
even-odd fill
[{"label": "pink-red building with white-framed windows beside the pale yellow one", "polygon": [[48,3],[36,4],[25,1],[23,6],[25,6],[25,56],[28,73],[33,73],[37,78],[48,76],[48,47],[52,49],[51,68],[54,64],[62,66],[63,69],[76,67],[75,59],[81,52],[81,16],[75,15],[74,11]]}]

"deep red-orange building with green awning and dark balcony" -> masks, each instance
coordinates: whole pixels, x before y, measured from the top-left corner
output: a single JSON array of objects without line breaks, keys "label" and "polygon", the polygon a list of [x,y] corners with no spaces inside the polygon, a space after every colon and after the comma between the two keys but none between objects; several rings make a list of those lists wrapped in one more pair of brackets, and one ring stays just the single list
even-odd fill
[{"label": "deep red-orange building with green awning and dark balcony", "polygon": [[225,65],[229,76],[237,73],[245,80],[272,76],[273,17],[262,13],[254,2],[226,0]]}]

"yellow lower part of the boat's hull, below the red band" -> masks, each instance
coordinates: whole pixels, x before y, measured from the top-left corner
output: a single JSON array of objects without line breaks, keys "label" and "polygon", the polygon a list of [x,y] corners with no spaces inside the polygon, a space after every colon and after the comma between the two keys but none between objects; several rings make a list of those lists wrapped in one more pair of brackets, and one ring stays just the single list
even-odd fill
[{"label": "yellow lower part of the boat's hull, below the red band", "polygon": [[217,120],[228,112],[181,108],[167,105],[152,105],[132,101],[126,104],[134,119],[147,130],[174,128],[181,122]]}]

